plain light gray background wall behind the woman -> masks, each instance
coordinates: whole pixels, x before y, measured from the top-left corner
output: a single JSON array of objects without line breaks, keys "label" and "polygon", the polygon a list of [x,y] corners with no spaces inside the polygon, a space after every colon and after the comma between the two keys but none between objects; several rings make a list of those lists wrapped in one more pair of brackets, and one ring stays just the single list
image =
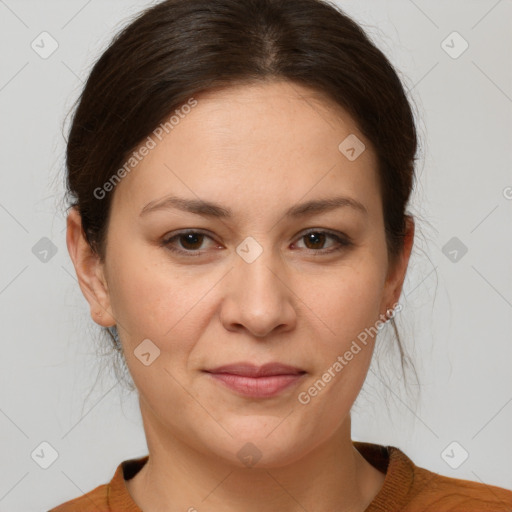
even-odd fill
[{"label": "plain light gray background wall behind the woman", "polygon": [[[512,3],[338,3],[398,68],[421,137],[416,245],[397,318],[421,398],[400,391],[398,360],[376,353],[386,364],[372,363],[353,438],[512,489]],[[0,0],[0,511],[46,511],[147,453],[136,396],[96,354],[99,327],[67,252],[60,201],[65,116],[113,33],[149,4]],[[43,31],[58,43],[46,59],[31,47]],[[454,31],[469,44],[457,58]],[[44,237],[54,255],[42,255]],[[47,469],[42,442],[58,454]],[[469,457],[454,469],[462,450]],[[34,451],[44,453],[39,463]]]}]

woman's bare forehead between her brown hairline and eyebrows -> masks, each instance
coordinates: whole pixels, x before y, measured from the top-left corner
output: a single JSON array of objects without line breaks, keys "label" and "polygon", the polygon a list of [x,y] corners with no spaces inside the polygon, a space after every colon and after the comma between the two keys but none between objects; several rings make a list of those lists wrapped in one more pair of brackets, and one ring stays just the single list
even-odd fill
[{"label": "woman's bare forehead between her brown hairline and eyebrows", "polygon": [[[378,193],[371,144],[344,109],[316,91],[272,82],[209,90],[194,100],[172,128],[152,136],[155,147],[117,186],[114,200],[132,213],[166,193],[215,199],[235,211],[237,200],[243,209],[258,198],[261,207],[262,196],[273,194],[267,207],[333,188]],[[353,136],[365,149],[351,161],[340,143]]]}]

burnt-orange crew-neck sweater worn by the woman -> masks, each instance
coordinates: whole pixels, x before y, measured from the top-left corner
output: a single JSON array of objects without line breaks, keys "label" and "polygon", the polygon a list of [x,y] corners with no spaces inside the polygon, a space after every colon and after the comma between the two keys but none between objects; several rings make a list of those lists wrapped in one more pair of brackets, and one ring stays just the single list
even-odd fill
[{"label": "burnt-orange crew-neck sweater worn by the woman", "polygon": [[[512,512],[512,491],[418,467],[394,446],[353,444],[370,464],[386,473],[365,512]],[[123,461],[110,483],[49,512],[142,512],[124,481],[135,476],[148,457]]]}]

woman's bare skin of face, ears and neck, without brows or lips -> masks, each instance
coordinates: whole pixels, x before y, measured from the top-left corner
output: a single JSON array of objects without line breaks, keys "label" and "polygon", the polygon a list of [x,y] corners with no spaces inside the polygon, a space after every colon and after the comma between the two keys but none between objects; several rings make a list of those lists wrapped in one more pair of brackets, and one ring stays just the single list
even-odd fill
[{"label": "woman's bare skin of face, ears and neck, without brows or lips", "polygon": [[[139,393],[150,458],[128,490],[147,512],[363,511],[385,475],[352,445],[350,409],[375,339],[308,404],[298,394],[398,302],[414,224],[391,265],[375,152],[354,120],[314,91],[271,82],[195,98],[117,185],[104,262],[82,236],[79,214],[68,217],[68,250],[91,316],[117,324]],[[338,149],[349,134],[366,145],[354,161]],[[233,217],[139,215],[168,194],[214,201]],[[367,214],[342,207],[283,216],[335,195],[360,201]],[[188,228],[207,236],[173,246],[203,254],[161,245]],[[336,240],[308,241],[309,228],[345,234],[353,245],[327,253]],[[236,252],[249,236],[263,249],[252,263]],[[160,350],[148,366],[134,354],[146,338]],[[275,397],[247,398],[202,371],[239,361],[307,373]],[[247,442],[261,453],[253,467],[237,456]]]}]

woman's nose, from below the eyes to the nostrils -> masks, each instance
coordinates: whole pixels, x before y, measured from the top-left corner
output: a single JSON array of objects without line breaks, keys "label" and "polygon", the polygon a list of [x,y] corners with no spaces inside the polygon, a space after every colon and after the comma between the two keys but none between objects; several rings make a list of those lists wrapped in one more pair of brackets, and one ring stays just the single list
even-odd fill
[{"label": "woman's nose, from below the eyes to the nostrils", "polygon": [[293,329],[298,299],[292,291],[290,272],[264,250],[253,262],[235,259],[225,280],[220,319],[229,331],[246,329],[263,338],[273,331]]}]

